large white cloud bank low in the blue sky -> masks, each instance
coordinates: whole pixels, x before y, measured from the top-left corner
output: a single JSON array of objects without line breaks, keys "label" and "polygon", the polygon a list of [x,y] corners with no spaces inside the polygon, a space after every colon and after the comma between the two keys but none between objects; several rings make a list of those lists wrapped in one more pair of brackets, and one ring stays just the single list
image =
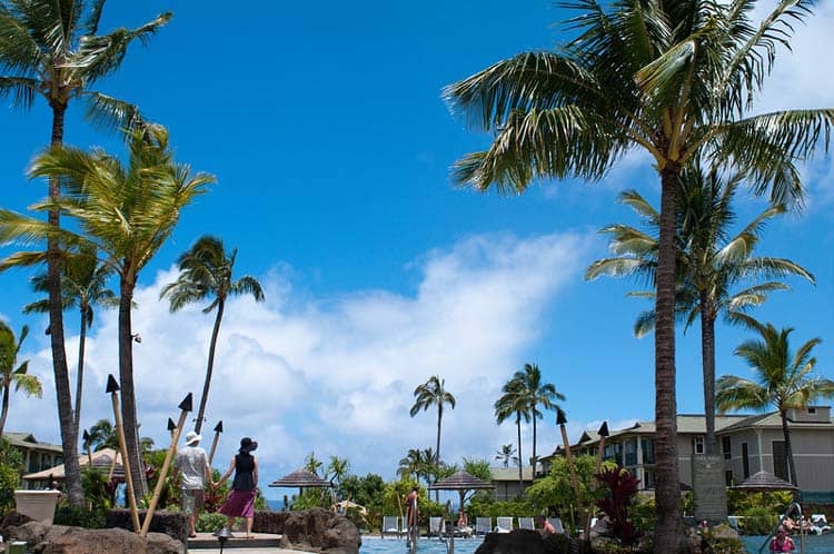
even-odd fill
[{"label": "large white cloud bank low in the blue sky", "polygon": [[[389,477],[408,448],[435,444],[436,412],[408,415],[414,388],[434,374],[457,397],[444,418],[444,458],[492,459],[500,444],[515,443],[512,425],[495,425],[493,403],[538,337],[548,304],[578,279],[589,240],[470,237],[416,263],[421,279],[413,296],[361,290],[322,300],[294,293],[278,273],[262,278],[267,301],[234,299],[224,319],[203,426],[208,446],[224,421],[215,465],[250,435],[260,443],[265,482],[300,466],[311,451],[322,459],[347,457],[356,473]],[[198,306],[168,313],[159,290],[175,276],[159,273],[140,288],[133,316],[142,337],[133,349],[141,434],[158,446],[187,392],[197,407],[214,323]],[[117,374],[116,333],[116,314],[100,311],[88,340],[86,427],[112,417],[103,389],[107,375]],[[71,358],[76,340],[68,337]],[[27,357],[44,380],[44,398],[16,395],[7,428],[58,442],[49,354]]]}]

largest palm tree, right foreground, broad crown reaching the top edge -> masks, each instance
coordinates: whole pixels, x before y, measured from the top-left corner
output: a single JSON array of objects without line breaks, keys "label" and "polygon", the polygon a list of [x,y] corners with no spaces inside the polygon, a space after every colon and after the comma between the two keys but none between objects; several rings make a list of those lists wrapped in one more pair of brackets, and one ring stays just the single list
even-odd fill
[{"label": "largest palm tree, right foreground, broad crown reaching the top edge", "polygon": [[661,181],[656,281],[655,552],[679,550],[675,427],[675,215],[681,171],[692,160],[751,168],[757,192],[801,197],[795,161],[834,125],[834,110],[749,116],[777,47],[788,44],[807,1],[781,1],[751,21],[755,0],[573,0],[575,37],[555,52],[525,52],[447,87],[445,97],[492,146],[464,157],[455,180],[524,192],[536,179],[599,179],[633,149]]}]

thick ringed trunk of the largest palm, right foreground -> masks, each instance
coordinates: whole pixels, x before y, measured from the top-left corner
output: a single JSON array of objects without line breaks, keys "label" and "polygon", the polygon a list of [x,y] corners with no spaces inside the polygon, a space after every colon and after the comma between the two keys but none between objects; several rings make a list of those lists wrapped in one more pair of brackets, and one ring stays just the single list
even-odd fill
[{"label": "thick ringed trunk of the largest palm, right foreground", "polygon": [[657,524],[654,551],[673,554],[681,550],[678,513],[681,482],[677,469],[677,404],[675,398],[675,220],[677,177],[681,167],[667,164],[661,171],[661,240],[657,253],[655,313],[655,425]]}]

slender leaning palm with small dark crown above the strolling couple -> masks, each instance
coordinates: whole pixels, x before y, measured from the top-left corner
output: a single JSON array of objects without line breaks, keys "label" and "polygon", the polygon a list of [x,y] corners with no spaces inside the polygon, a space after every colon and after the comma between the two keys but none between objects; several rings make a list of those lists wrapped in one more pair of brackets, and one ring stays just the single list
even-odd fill
[{"label": "slender leaning palm with small dark crown above the strolling couple", "polygon": [[206,414],[206,403],[208,402],[211,374],[215,367],[215,348],[217,347],[217,337],[220,334],[220,321],[226,309],[226,300],[232,296],[248,294],[255,297],[256,301],[264,301],[264,290],[255,277],[245,275],[237,280],[232,280],[237,254],[237,248],[228,254],[219,238],[209,235],[200,237],[177,260],[180,270],[177,280],[166,285],[159,295],[160,298],[167,296],[170,299],[171,311],[178,311],[187,304],[202,301],[207,298],[210,298],[211,303],[202,309],[202,313],[209,314],[217,308],[215,328],[211,332],[211,342],[209,343],[206,380],[202,384],[200,406],[197,410],[196,433],[199,433],[202,428]]}]

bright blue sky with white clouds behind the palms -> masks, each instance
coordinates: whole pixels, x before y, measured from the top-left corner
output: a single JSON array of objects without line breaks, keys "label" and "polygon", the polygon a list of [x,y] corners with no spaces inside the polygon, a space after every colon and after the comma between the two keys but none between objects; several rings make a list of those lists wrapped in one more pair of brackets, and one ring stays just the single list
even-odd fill
[{"label": "bright blue sky with white clouds behind the palms", "polygon": [[[770,3],[767,3],[770,6]],[[525,363],[566,396],[568,433],[622,428],[654,417],[651,337],[632,335],[647,305],[627,298],[627,280],[585,281],[585,268],[609,255],[598,230],[638,224],[617,195],[636,189],[655,205],[649,160],[627,156],[599,182],[543,181],[523,196],[456,187],[454,161],[489,137],[450,113],[441,90],[522,51],[567,40],[555,23],[567,13],[548,0],[228,2],[147,0],[107,4],[102,30],[139,26],[170,10],[172,21],[147,47],[135,44],[120,71],[98,89],[133,101],[170,130],[177,158],[217,176],[210,194],[187,207],[136,294],[135,375],[140,433],[168,445],[166,423],[189,392],[198,398],[214,315],[195,305],[170,314],[160,289],[176,258],[205,234],[238,248],[238,276],[266,291],[229,303],[220,333],[203,426],[224,422],[215,465],[239,439],[260,444],[261,485],[317,458],[345,457],[351,473],[395,476],[409,448],[434,447],[436,413],[409,417],[413,392],[431,375],[457,399],[445,410],[441,457],[495,461],[516,443],[512,422],[497,425],[493,404]],[[763,13],[762,10],[758,12]],[[797,27],[782,49],[756,108],[830,107],[834,73],[821,65],[834,38],[834,1]],[[123,152],[118,137],[71,110],[67,142]],[[0,206],[24,210],[46,194],[26,167],[49,138],[50,116],[0,105]],[[762,255],[790,257],[816,277],[791,280],[755,311],[794,327],[793,344],[822,337],[817,372],[834,378],[834,164],[821,152],[803,167],[805,209],[768,224]],[[738,220],[765,205],[746,190]],[[14,251],[7,246],[0,255]],[[46,320],[23,316],[36,299],[31,274],[0,275],[0,317],[32,333],[21,359],[43,383],[43,397],[14,394],[8,431],[59,443]],[[118,285],[113,283],[113,287]],[[718,325],[717,374],[749,376],[733,355],[738,329]],[[81,424],[110,417],[105,394],[117,368],[117,317],[99,309],[87,343]],[[77,359],[78,318],[67,318]],[[679,413],[703,413],[699,334],[678,334]],[[75,378],[75,372],[72,372]],[[532,429],[523,427],[523,456]],[[538,453],[560,441],[555,414],[538,424]],[[266,488],[277,498],[287,491]]]}]

